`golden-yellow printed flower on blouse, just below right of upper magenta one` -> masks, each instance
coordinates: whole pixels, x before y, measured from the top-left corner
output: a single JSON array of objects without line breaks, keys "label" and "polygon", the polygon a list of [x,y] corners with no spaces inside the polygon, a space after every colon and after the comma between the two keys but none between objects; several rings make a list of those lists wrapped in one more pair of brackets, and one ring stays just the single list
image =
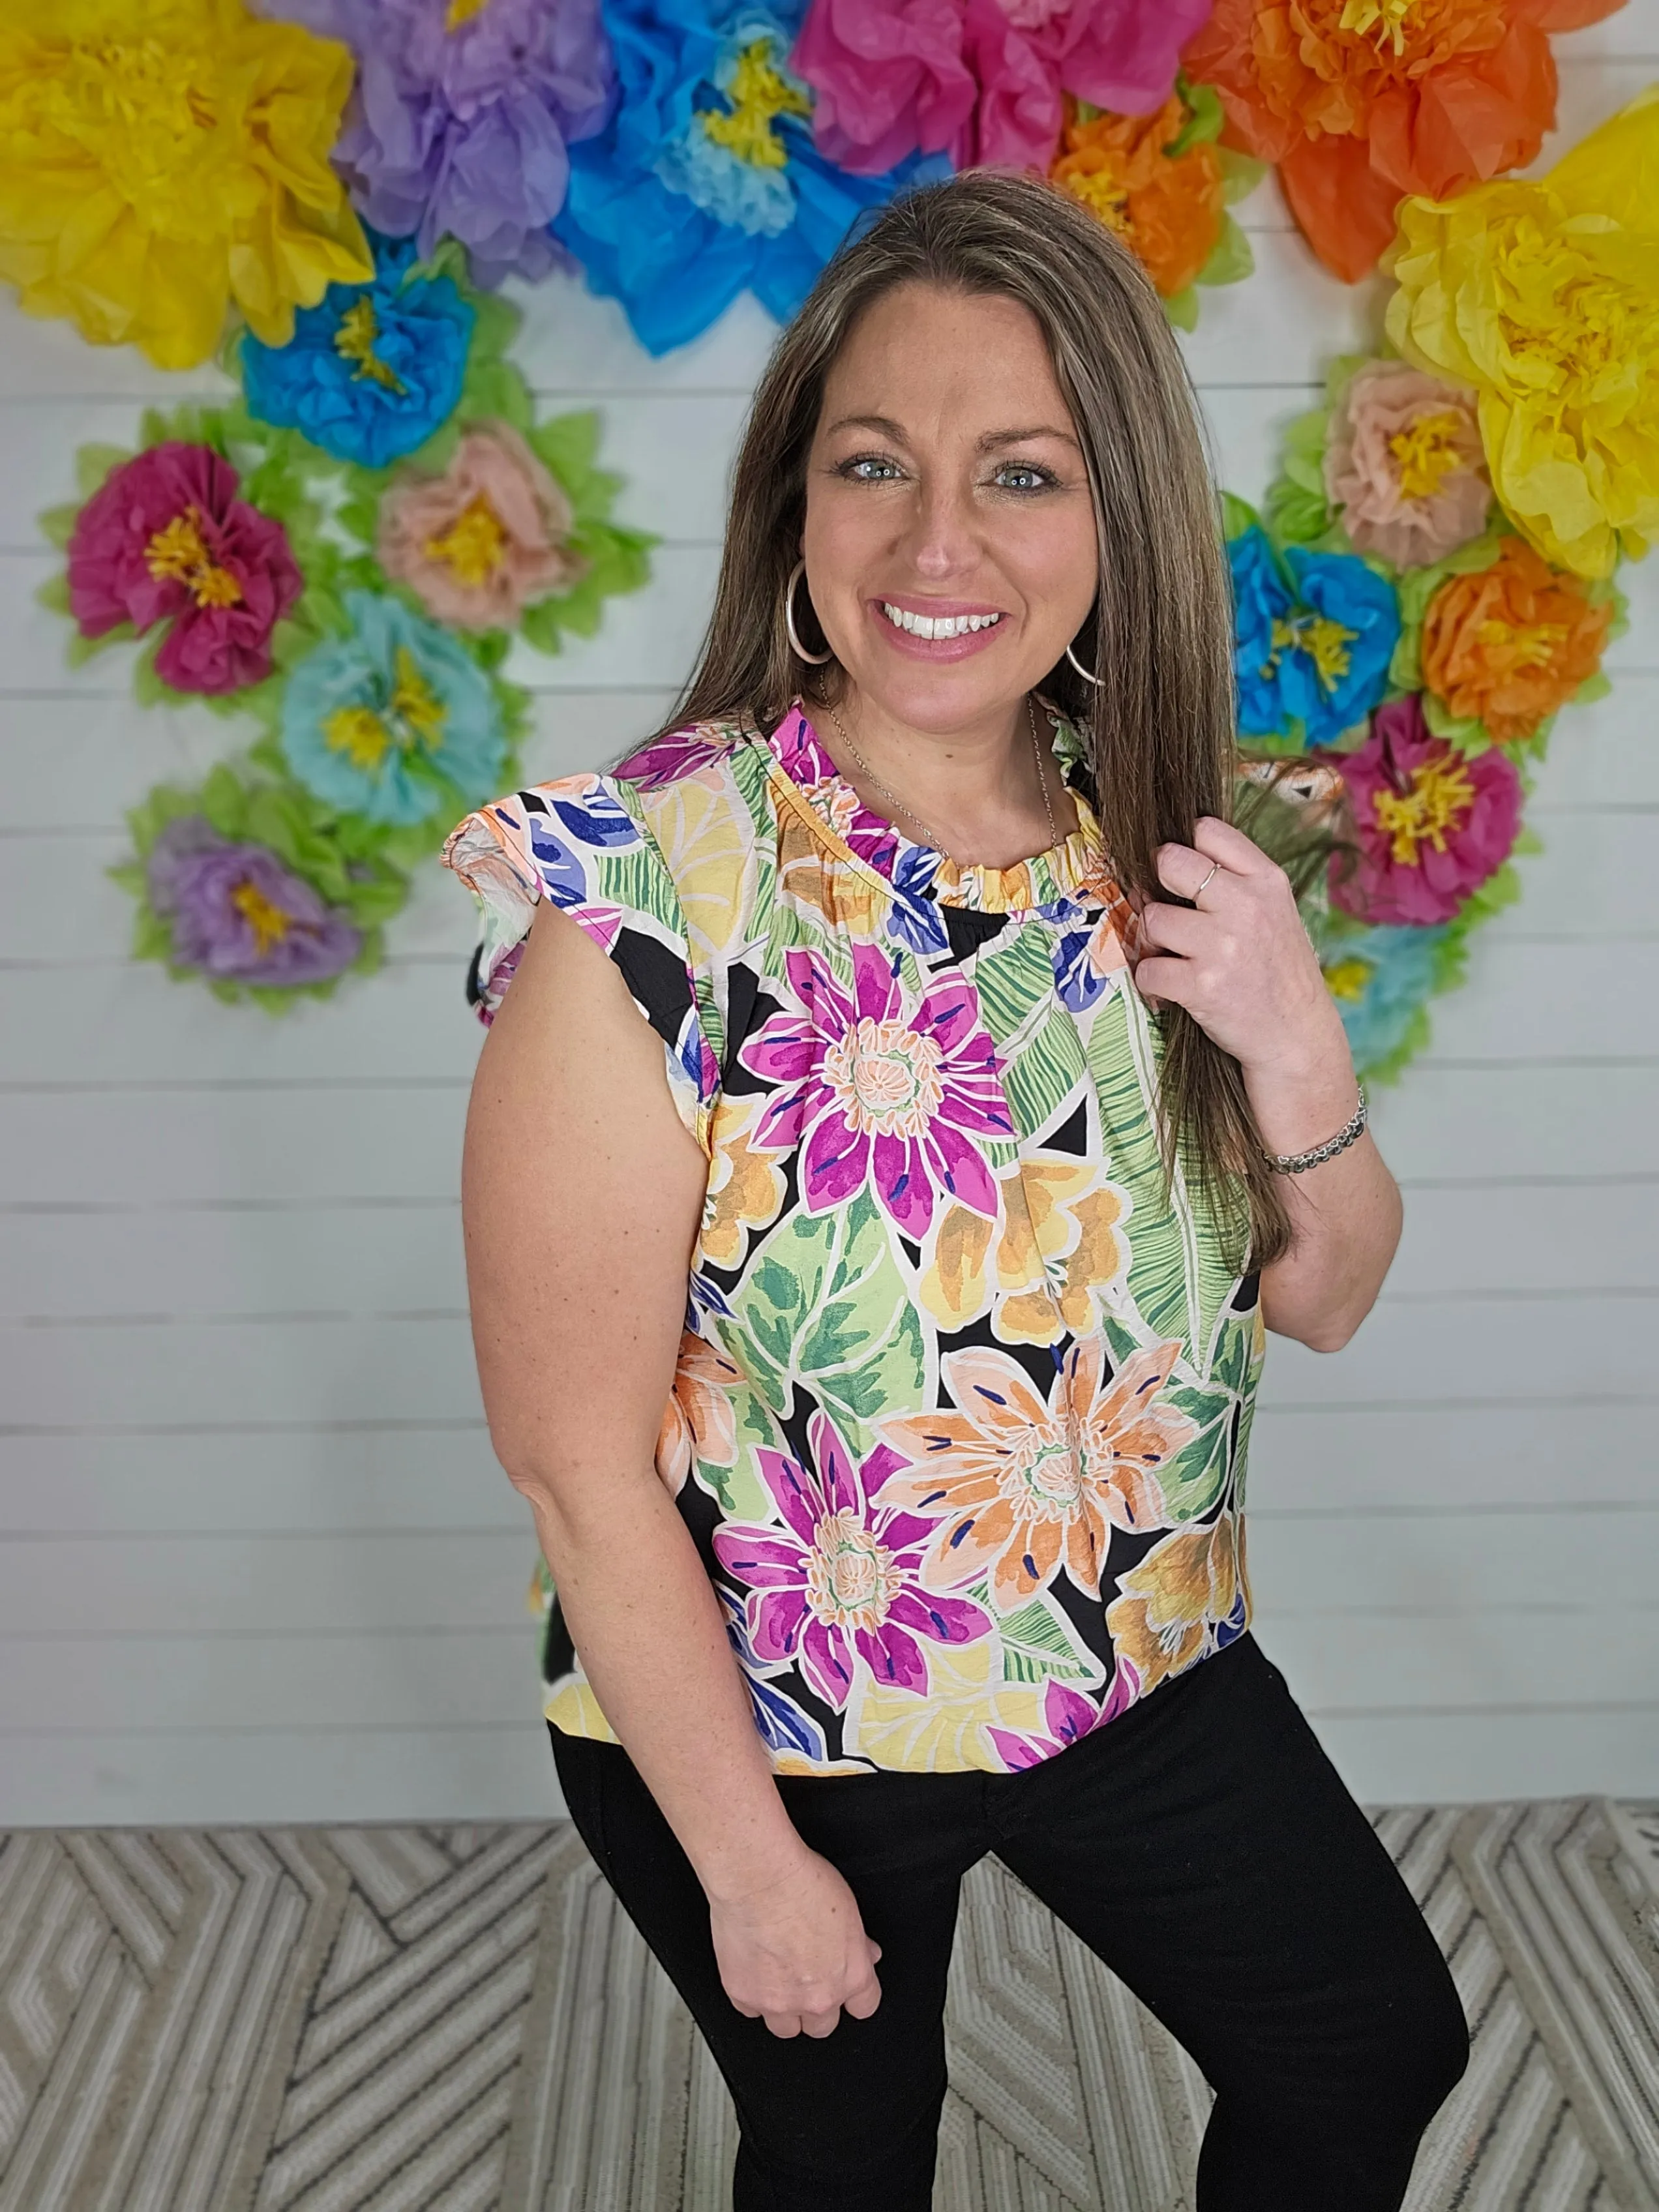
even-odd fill
[{"label": "golden-yellow printed flower on blouse, just below right of upper magenta one", "polygon": [[1128,1192],[1095,1161],[1033,1152],[1000,1170],[998,1194],[995,1223],[967,1206],[945,1214],[920,1283],[927,1312],[960,1329],[989,1307],[991,1329],[1009,1345],[1091,1332],[1095,1292],[1128,1270]]}]

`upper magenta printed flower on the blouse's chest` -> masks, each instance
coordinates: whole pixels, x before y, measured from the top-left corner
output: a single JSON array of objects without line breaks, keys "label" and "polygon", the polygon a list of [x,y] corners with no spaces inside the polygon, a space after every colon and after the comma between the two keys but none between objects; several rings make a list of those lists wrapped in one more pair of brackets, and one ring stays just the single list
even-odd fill
[{"label": "upper magenta printed flower on the blouse's chest", "polygon": [[995,1219],[998,1183],[975,1137],[1011,1137],[1000,1062],[969,982],[911,998],[902,956],[854,940],[852,995],[821,951],[785,953],[803,1013],[774,1013],[741,1062],[783,1091],[754,1141],[801,1146],[810,1214],[849,1199],[874,1172],[894,1225],[920,1241],[942,1199]]}]

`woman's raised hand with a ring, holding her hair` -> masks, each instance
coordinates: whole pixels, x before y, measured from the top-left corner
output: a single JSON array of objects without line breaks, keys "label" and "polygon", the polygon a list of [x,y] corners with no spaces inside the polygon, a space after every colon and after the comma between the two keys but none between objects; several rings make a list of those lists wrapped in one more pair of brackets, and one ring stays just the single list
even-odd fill
[{"label": "woman's raised hand with a ring, holding her hair", "polygon": [[1349,1064],[1290,876],[1243,830],[1203,814],[1192,845],[1161,845],[1159,883],[1192,907],[1148,902],[1135,984],[1186,1006],[1245,1075]]}]

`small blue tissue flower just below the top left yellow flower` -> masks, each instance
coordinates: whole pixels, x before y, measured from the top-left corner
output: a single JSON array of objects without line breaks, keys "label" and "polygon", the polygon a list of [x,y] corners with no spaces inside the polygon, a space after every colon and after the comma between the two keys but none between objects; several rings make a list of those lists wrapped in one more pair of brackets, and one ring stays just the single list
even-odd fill
[{"label": "small blue tissue flower just below the top left yellow flower", "polygon": [[374,283],[332,283],[288,345],[241,341],[248,409],[336,460],[385,469],[460,398],[473,310],[449,276],[411,276],[414,239],[374,237]]}]

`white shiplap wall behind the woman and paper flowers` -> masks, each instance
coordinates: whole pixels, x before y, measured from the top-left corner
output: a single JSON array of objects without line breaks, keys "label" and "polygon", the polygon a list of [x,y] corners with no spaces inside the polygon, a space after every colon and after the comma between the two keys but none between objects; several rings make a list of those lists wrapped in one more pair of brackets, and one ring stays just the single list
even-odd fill
[{"label": "white shiplap wall behind the woman and paper flowers", "polygon": [[[1659,0],[1557,42],[1568,144],[1659,77]],[[1323,356],[1365,343],[1272,186],[1256,276],[1190,341],[1259,495]],[[599,765],[697,639],[770,325],[650,363],[555,281],[520,358],[604,409],[653,586],[526,659],[531,776]],[[471,914],[429,867],[392,962],[288,1020],[122,958],[122,810],[226,743],[64,672],[38,507],[146,398],[212,389],[0,310],[0,1825],[557,1809],[467,1343],[456,1166]],[[1336,1358],[1274,1345],[1259,1632],[1367,1798],[1659,1794],[1659,560],[1615,692],[1568,712],[1526,900],[1378,1104],[1407,1239]]]}]

